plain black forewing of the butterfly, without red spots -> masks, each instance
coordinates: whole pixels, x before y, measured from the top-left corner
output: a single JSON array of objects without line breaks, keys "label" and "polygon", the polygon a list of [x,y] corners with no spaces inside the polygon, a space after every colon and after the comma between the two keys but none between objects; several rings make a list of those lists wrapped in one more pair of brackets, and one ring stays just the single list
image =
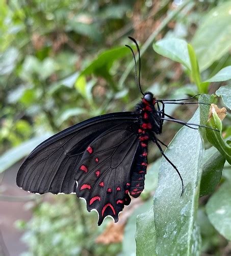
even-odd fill
[{"label": "plain black forewing of the butterfly, without red spots", "polygon": [[75,124],[38,145],[23,161],[17,185],[32,193],[75,192],[77,166],[87,146],[100,134],[123,122],[137,122],[133,112],[106,114]]}]

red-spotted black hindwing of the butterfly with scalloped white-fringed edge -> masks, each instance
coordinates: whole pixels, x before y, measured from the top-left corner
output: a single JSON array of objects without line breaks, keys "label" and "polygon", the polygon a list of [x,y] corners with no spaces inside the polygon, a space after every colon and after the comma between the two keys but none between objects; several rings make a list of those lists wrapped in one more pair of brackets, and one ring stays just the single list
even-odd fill
[{"label": "red-spotted black hindwing of the butterfly with scalloped white-fringed edge", "polygon": [[131,121],[112,127],[92,141],[77,166],[76,195],[84,198],[88,211],[98,212],[98,225],[106,216],[118,221],[130,204],[128,195],[134,158],[139,148],[138,126]]}]

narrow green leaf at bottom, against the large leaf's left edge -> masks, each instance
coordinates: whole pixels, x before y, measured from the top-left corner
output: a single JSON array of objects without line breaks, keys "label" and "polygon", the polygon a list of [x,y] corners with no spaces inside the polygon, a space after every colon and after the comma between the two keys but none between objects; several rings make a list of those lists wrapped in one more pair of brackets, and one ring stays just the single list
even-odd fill
[{"label": "narrow green leaf at bottom, against the large leaf's left edge", "polygon": [[[145,184],[146,186],[146,184]],[[153,206],[137,216],[136,255],[155,255],[156,230]]]}]

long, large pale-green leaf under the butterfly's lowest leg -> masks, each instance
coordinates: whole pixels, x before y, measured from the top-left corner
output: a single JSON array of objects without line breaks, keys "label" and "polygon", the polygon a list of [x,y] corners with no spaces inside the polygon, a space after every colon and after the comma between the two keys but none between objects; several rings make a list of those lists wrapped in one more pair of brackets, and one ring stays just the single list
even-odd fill
[{"label": "long, large pale-green leaf under the butterfly's lowest leg", "polygon": [[[198,110],[190,122],[199,123]],[[203,154],[199,132],[183,127],[171,141],[165,154],[181,173],[185,191],[181,197],[181,180],[172,165],[162,158],[153,206],[156,253],[199,255],[201,237],[196,212]]]}]

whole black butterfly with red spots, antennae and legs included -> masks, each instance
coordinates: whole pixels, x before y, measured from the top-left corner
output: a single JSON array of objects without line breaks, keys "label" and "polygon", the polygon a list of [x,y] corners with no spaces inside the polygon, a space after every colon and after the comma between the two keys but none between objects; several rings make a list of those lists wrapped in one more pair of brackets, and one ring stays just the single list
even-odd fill
[{"label": "whole black butterfly with red spots, antennae and legs included", "polygon": [[[139,47],[134,38],[130,39],[137,46],[140,64]],[[132,48],[127,47],[131,49],[135,59]],[[107,216],[117,222],[124,205],[130,204],[130,196],[137,198],[144,189],[147,148],[148,142],[152,141],[178,173],[183,194],[181,174],[165,156],[160,143],[165,144],[157,135],[162,132],[164,120],[187,126],[196,124],[176,120],[164,111],[166,103],[186,103],[156,100],[152,93],[143,93],[140,87],[140,69],[137,84],[143,97],[134,112],[94,117],[45,140],[20,166],[17,185],[36,194],[76,193],[86,200],[88,211],[97,210],[98,225]]]}]

